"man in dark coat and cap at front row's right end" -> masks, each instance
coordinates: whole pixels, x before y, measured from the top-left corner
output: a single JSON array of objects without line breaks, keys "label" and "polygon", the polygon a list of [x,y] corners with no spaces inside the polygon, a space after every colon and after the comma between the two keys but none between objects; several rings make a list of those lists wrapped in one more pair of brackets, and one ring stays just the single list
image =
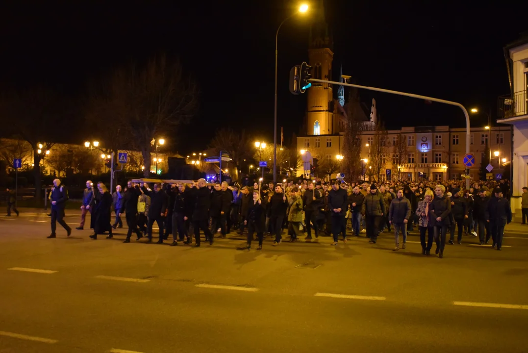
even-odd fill
[{"label": "man in dark coat and cap at front row's right end", "polygon": [[492,233],[493,247],[501,250],[504,227],[512,222],[512,209],[510,202],[503,197],[501,188],[496,187],[493,193],[495,197],[489,200],[486,208],[486,222],[489,223],[489,231]]}]

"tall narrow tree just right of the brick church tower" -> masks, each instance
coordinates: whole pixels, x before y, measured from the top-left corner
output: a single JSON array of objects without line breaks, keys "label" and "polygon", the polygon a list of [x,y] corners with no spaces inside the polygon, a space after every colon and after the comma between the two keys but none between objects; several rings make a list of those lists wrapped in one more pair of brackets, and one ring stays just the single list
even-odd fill
[{"label": "tall narrow tree just right of the brick church tower", "polygon": [[361,117],[364,115],[357,89],[351,89],[345,121],[345,134],[343,141],[343,166],[341,170],[347,178],[355,180],[362,173],[361,165]]}]

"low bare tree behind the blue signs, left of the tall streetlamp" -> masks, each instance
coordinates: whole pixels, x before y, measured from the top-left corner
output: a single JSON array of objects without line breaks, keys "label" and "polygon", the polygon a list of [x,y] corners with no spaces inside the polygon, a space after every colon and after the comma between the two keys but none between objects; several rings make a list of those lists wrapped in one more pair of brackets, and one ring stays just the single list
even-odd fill
[{"label": "low bare tree behind the blue signs, left of the tall streetlamp", "polygon": [[254,150],[251,145],[251,138],[246,131],[242,130],[240,133],[231,128],[221,128],[216,130],[216,133],[209,144],[211,152],[219,156],[220,151],[227,152],[231,157],[231,163],[241,170],[244,159],[249,159]]}]

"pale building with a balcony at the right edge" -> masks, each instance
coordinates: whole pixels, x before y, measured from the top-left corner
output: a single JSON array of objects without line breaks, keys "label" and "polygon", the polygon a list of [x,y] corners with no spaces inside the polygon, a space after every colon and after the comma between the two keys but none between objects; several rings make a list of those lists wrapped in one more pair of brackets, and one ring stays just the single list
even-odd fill
[{"label": "pale building with a balcony at the right edge", "polygon": [[513,130],[512,211],[520,214],[522,188],[528,186],[528,33],[504,48],[510,94],[498,98],[497,122]]}]

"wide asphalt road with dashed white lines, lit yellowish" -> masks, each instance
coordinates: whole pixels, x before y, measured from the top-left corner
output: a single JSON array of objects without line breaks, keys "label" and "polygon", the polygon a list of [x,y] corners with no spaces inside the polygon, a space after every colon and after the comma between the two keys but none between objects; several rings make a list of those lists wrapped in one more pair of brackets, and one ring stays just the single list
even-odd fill
[{"label": "wide asphalt road with dashed white lines, lit yellowish", "polygon": [[45,214],[1,217],[0,352],[528,350],[528,226],[508,226],[502,251],[465,237],[444,259],[416,232],[399,252],[388,233],[261,252],[124,233],[46,239]]}]

